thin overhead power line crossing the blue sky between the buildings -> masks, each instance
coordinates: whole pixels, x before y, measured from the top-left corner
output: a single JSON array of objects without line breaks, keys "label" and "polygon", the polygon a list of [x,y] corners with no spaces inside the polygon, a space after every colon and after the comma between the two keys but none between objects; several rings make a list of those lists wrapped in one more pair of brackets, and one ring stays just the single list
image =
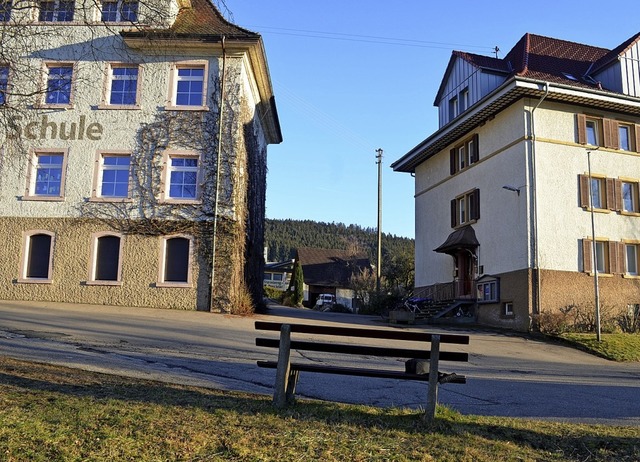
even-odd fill
[{"label": "thin overhead power line crossing the blue sky between the buildings", "polygon": [[270,26],[244,26],[252,30],[264,31],[267,34],[276,35],[290,35],[295,37],[309,37],[319,38],[325,40],[342,40],[347,42],[364,42],[364,43],[381,43],[385,45],[399,45],[410,46],[419,48],[440,48],[450,49],[451,47],[460,47],[464,49],[478,49],[487,53],[495,52],[495,48],[492,46],[484,45],[468,45],[460,43],[449,42],[434,42],[429,40],[416,40],[397,37],[382,37],[376,35],[359,35],[359,34],[347,34],[343,32],[326,32],[317,30],[305,30],[305,29],[289,29],[283,27],[270,27]]}]

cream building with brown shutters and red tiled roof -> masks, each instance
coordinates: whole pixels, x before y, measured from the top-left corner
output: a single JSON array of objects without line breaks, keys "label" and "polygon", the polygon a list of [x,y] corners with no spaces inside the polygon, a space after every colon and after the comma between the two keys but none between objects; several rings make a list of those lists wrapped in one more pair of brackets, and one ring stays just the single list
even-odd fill
[{"label": "cream building with brown shutters and red tiled roof", "polygon": [[[640,307],[640,34],[605,49],[525,34],[454,51],[415,174],[416,287],[519,330],[571,305]],[[593,217],[593,226],[592,226]]]}]

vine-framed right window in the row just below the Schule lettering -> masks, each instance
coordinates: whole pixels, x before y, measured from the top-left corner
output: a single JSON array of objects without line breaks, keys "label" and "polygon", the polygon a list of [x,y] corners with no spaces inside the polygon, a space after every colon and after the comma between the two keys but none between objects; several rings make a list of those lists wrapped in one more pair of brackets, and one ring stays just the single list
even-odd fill
[{"label": "vine-framed right window in the row just below the Schule lettering", "polygon": [[199,156],[169,154],[166,159],[165,199],[193,201],[199,198]]}]

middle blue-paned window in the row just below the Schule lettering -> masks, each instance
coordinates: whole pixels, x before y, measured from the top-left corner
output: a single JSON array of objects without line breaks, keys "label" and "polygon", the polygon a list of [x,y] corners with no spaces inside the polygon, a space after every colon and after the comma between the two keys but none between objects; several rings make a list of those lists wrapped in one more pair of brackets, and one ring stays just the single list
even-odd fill
[{"label": "middle blue-paned window in the row just below the Schule lettering", "polygon": [[94,197],[126,199],[129,197],[130,154],[100,153]]}]

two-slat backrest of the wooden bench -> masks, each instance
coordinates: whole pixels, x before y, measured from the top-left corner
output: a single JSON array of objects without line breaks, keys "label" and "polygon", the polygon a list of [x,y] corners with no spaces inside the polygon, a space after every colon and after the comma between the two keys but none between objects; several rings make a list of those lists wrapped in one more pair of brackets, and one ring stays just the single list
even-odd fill
[{"label": "two-slat backrest of the wooden bench", "polygon": [[[384,340],[402,340],[409,342],[430,343],[432,335],[426,332],[407,332],[389,329],[369,329],[361,327],[337,327],[337,326],[317,326],[310,324],[290,324],[256,321],[256,330],[280,332],[282,325],[291,326],[291,333],[326,335],[343,338],[371,338]],[[468,335],[439,334],[440,343],[468,345]],[[272,338],[256,338],[256,345],[262,347],[279,348],[280,340]],[[417,358],[430,359],[431,352],[426,349],[426,345],[420,345],[415,348],[395,348],[395,347],[377,347],[359,344],[344,344],[335,342],[325,342],[319,340],[291,340],[291,348],[304,351],[318,351],[327,353],[353,354],[362,356],[380,356],[394,358]],[[439,352],[440,361],[461,361],[469,360],[468,353],[457,351]]]}]

